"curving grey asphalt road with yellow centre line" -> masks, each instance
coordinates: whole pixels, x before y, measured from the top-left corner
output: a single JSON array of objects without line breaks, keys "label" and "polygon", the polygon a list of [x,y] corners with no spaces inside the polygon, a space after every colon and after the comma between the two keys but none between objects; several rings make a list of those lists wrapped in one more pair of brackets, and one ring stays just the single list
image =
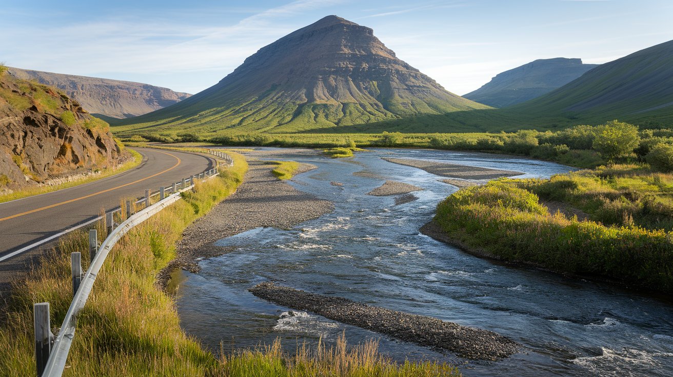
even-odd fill
[{"label": "curving grey asphalt road with yellow centre line", "polygon": [[[183,177],[215,167],[214,160],[206,155],[149,148],[134,150],[143,155],[143,162],[124,173],[48,194],[0,203],[0,258],[99,216],[103,208],[116,208],[121,198],[138,198],[144,196],[145,189],[155,192],[162,185],[172,185]],[[26,259],[21,255],[1,261],[0,275],[8,270],[21,269]]]}]

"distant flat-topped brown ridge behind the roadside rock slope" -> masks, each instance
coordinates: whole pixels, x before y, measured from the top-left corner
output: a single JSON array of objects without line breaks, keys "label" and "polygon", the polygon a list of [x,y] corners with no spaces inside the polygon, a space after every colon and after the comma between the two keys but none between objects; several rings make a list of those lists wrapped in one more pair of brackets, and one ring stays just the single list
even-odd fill
[{"label": "distant flat-topped brown ridge behind the roadside rock slope", "polygon": [[8,72],[17,79],[34,80],[44,85],[57,87],[68,97],[81,103],[88,111],[111,118],[129,118],[147,114],[171,106],[191,95],[131,81],[62,75],[18,68],[9,68]]}]

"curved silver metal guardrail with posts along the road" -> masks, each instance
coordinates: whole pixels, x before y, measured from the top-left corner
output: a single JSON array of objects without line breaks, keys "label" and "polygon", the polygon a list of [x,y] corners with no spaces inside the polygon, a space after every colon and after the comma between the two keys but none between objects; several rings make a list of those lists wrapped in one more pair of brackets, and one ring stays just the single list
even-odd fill
[{"label": "curved silver metal guardrail with posts along the road", "polygon": [[[227,165],[234,165],[234,161],[228,155],[221,153],[219,151],[210,151],[212,155],[220,157],[227,161]],[[145,191],[145,198],[137,200],[135,204],[145,202],[145,208],[140,210],[135,214],[131,214],[131,202],[127,201],[127,219],[123,221],[118,226],[112,224],[110,228],[110,219],[114,219],[114,212],[122,210],[114,210],[106,214],[106,226],[108,227],[108,235],[103,243],[96,245],[97,237],[96,231],[92,230],[90,232],[90,252],[92,253],[91,263],[89,268],[81,275],[81,254],[73,253],[72,255],[72,272],[73,272],[73,301],[68,308],[68,311],[65,314],[65,319],[63,319],[63,325],[59,330],[58,335],[55,337],[50,333],[50,323],[49,323],[49,304],[48,302],[41,302],[34,304],[34,325],[35,325],[35,357],[38,367],[38,376],[42,377],[57,377],[63,374],[63,369],[65,368],[65,362],[68,358],[68,353],[70,351],[70,346],[72,344],[73,338],[75,337],[75,329],[77,327],[77,314],[84,307],[89,298],[89,294],[94,287],[94,282],[96,282],[96,276],[98,276],[98,271],[100,271],[105,259],[108,256],[108,253],[112,250],[112,247],[119,241],[128,231],[133,227],[141,224],[154,214],[161,212],[164,208],[170,206],[174,202],[180,200],[180,194],[186,190],[192,189],[194,187],[194,180],[215,177],[219,175],[217,169],[210,169],[209,171],[204,171],[199,173],[199,175],[192,175],[187,179],[182,179],[180,183],[173,183],[172,187],[161,187],[159,192],[151,194],[149,190]],[[197,178],[198,177],[198,178]],[[186,182],[190,182],[189,186],[186,186]],[[177,190],[178,185],[181,185],[181,189]],[[170,190],[172,194],[166,196],[167,192]],[[149,199],[153,196],[160,196],[160,201],[155,204],[149,205]],[[101,220],[103,216],[91,220],[89,223],[92,223],[96,220]],[[76,261],[76,262],[75,262]],[[46,359],[46,362],[45,362]]]}]

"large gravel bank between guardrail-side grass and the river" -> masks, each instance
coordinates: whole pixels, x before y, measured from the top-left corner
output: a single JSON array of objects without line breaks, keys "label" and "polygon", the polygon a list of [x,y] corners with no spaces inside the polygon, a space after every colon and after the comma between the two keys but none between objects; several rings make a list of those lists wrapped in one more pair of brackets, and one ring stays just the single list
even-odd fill
[{"label": "large gravel bank between guardrail-side grass and the river", "polygon": [[[283,156],[276,151],[274,157]],[[197,259],[229,251],[213,245],[219,239],[262,226],[291,228],[334,210],[332,202],[296,190],[278,179],[271,173],[274,166],[265,162],[248,159],[248,173],[238,190],[185,229],[177,245],[176,259],[160,271],[157,284],[166,288],[175,269],[195,273],[199,271]],[[315,168],[301,163],[295,175]]]}]

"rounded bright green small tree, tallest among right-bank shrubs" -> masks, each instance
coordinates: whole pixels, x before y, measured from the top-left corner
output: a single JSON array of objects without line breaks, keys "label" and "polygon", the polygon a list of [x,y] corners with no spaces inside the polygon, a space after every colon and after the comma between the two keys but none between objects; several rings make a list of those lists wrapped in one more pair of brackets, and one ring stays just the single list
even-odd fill
[{"label": "rounded bright green small tree, tallest among right-bank shrubs", "polygon": [[612,163],[614,159],[632,153],[639,142],[638,126],[613,120],[596,127],[596,136],[592,146]]}]

